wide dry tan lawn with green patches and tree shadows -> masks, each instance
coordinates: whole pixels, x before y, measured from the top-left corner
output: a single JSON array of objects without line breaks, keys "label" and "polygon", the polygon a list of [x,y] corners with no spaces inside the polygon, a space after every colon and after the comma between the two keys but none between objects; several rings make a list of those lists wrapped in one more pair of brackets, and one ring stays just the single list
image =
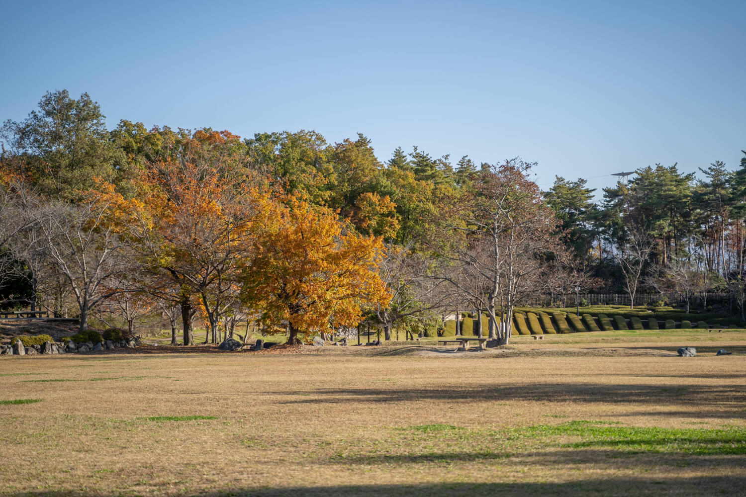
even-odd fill
[{"label": "wide dry tan lawn with green patches and tree shadows", "polygon": [[3,357],[0,495],[746,495],[746,334],[593,335]]}]

